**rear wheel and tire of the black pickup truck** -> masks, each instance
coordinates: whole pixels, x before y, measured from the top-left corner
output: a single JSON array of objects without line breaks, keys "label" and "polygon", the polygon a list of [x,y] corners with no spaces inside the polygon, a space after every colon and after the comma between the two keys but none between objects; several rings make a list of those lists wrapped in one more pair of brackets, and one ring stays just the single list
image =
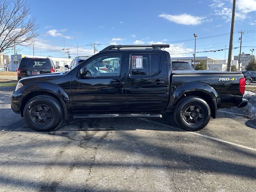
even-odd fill
[{"label": "rear wheel and tire of the black pickup truck", "polygon": [[174,120],[182,129],[198,131],[210,121],[211,110],[205,100],[196,96],[181,99],[174,108]]}]

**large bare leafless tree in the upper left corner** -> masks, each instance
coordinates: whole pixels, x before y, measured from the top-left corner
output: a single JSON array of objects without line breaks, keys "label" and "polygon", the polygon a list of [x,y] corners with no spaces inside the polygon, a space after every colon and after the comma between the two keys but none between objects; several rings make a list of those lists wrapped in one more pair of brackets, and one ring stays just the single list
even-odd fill
[{"label": "large bare leafless tree in the upper left corner", "polygon": [[15,45],[31,45],[37,29],[26,0],[0,0],[0,52]]}]

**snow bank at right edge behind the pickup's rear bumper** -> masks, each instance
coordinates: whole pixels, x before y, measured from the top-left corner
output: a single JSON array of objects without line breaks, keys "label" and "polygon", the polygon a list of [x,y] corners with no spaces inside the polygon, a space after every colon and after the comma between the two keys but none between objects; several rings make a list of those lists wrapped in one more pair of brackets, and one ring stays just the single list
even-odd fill
[{"label": "snow bank at right edge behind the pickup's rear bumper", "polygon": [[250,91],[245,91],[244,97],[248,100],[248,105],[243,109],[250,113],[251,120],[256,121],[256,94]]}]

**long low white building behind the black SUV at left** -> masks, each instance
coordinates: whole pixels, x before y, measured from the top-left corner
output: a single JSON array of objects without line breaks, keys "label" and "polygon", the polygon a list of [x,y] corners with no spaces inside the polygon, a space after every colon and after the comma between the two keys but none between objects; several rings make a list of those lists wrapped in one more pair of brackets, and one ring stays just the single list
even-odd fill
[{"label": "long low white building behind the black SUV at left", "polygon": [[65,59],[65,58],[56,58],[56,57],[43,57],[43,56],[33,56],[33,55],[22,55],[22,54],[16,54],[11,55],[11,62],[8,65],[8,70],[10,71],[16,71],[18,66],[20,65],[20,61],[22,58],[28,57],[28,58],[50,58],[55,66],[60,66],[60,70],[64,70],[65,65],[70,65],[72,62],[72,59]]}]

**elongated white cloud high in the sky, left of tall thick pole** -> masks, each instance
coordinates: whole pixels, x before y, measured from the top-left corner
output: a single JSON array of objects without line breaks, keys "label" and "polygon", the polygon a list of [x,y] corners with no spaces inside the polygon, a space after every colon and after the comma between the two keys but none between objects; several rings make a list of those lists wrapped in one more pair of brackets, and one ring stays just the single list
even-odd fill
[{"label": "elongated white cloud high in the sky, left of tall thick pole", "polygon": [[205,17],[192,16],[186,13],[180,15],[160,14],[159,17],[163,17],[170,22],[175,22],[177,24],[183,25],[199,25],[205,19]]}]

